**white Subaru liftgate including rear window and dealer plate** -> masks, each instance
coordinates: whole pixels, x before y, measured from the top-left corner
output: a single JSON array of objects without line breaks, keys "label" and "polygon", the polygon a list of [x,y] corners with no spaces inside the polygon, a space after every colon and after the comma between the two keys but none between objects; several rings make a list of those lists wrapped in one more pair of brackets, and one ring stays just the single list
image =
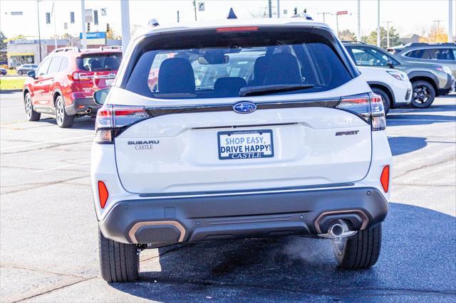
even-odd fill
[{"label": "white Subaru liftgate including rear window and dealer plate", "polygon": [[[229,34],[214,30],[193,33],[198,48],[192,41],[180,45],[179,37],[162,40],[156,48],[146,46],[138,60],[132,59],[137,63],[125,87],[113,87],[110,94],[110,103],[142,105],[150,115],[123,127],[115,138],[125,189],[237,191],[337,186],[363,179],[371,163],[371,126],[335,107],[342,96],[370,89],[347,66],[345,53],[338,53],[332,34],[322,35],[292,28]],[[212,49],[214,41],[217,48]],[[236,49],[231,48],[234,41]],[[168,49],[162,49],[165,42]],[[150,69],[164,53],[174,55],[163,60],[151,88]],[[232,53],[244,61],[230,61]],[[249,66],[240,68],[239,62]],[[220,73],[221,67],[226,73]],[[239,73],[232,74],[234,68]],[[215,78],[202,84],[198,78],[204,79],[204,73]],[[276,85],[305,88],[239,96]]]}]

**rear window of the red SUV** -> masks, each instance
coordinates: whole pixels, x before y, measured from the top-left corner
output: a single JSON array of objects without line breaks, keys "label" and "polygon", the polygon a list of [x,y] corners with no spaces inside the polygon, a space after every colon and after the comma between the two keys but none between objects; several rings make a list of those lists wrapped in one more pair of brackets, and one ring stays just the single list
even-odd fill
[{"label": "rear window of the red SUV", "polygon": [[90,54],[76,58],[76,65],[79,70],[118,70],[121,60],[121,53]]}]

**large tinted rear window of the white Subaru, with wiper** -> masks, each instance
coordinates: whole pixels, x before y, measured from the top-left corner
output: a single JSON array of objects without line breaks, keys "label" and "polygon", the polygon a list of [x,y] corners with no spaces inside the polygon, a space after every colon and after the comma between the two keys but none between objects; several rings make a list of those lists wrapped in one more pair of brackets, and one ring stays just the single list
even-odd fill
[{"label": "large tinted rear window of the white Subaru, with wiper", "polygon": [[332,44],[337,42],[324,32],[260,28],[152,36],[138,46],[125,89],[160,99],[239,97],[244,87],[274,85],[305,87],[274,94],[331,90],[353,77]]}]

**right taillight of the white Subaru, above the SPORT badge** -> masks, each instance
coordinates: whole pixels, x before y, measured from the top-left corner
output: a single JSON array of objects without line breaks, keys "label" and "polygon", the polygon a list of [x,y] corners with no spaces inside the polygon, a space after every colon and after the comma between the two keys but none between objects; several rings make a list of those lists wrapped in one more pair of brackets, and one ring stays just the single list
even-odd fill
[{"label": "right taillight of the white Subaru, above the SPORT badge", "polygon": [[347,110],[371,124],[373,131],[386,128],[385,110],[382,98],[374,93],[342,97],[337,105],[341,110]]}]

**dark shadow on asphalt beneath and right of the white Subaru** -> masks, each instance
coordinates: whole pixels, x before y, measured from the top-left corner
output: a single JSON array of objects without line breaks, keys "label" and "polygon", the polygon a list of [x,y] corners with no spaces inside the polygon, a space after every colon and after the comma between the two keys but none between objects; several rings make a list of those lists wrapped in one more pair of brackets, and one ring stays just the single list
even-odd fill
[{"label": "dark shadow on asphalt beneath and right of the white Subaru", "polygon": [[227,240],[162,248],[160,260],[141,263],[139,282],[111,286],[157,301],[451,299],[456,298],[455,235],[453,216],[390,203],[380,259],[368,270],[338,268],[328,240]]}]

